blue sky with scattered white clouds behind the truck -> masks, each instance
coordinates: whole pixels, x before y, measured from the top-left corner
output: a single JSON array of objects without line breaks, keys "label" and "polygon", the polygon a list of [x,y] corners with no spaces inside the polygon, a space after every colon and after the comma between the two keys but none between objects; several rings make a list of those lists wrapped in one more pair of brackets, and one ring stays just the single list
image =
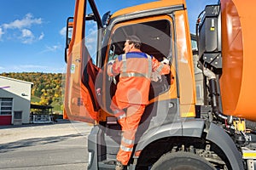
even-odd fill
[{"label": "blue sky with scattered white clouds behind the truck", "polygon": [[[99,13],[152,0],[95,0]],[[190,32],[206,4],[218,0],[187,0]],[[63,73],[67,17],[75,0],[0,0],[0,73]]]}]

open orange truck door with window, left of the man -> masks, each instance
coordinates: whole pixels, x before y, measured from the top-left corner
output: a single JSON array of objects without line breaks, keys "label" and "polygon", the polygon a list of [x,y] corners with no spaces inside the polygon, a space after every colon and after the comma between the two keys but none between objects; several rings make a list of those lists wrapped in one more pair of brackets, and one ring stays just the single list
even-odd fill
[{"label": "open orange truck door with window, left of the man", "polygon": [[94,1],[77,0],[74,17],[67,19],[65,119],[90,123],[98,119],[95,82],[100,70],[101,29]]}]

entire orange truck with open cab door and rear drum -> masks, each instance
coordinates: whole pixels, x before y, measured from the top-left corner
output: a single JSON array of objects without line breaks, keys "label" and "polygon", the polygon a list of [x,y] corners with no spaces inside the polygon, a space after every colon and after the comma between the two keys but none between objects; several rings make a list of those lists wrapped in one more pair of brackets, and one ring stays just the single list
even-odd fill
[{"label": "entire orange truck with open cab door and rear drum", "polygon": [[127,169],[256,169],[255,6],[209,4],[191,36],[185,0],[102,16],[94,0],[76,0],[67,20],[64,117],[93,124],[88,169],[115,168],[122,132],[110,105],[119,75],[108,77],[108,61],[131,35],[144,53],[168,59],[171,73],[152,73]]}]

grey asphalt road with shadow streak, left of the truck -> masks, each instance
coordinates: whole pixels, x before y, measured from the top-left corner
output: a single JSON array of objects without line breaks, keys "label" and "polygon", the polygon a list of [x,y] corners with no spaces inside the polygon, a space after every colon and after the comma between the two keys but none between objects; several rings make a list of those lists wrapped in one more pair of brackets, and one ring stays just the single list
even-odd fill
[{"label": "grey asphalt road with shadow streak, left of the truck", "polygon": [[0,169],[87,169],[87,136],[80,122],[0,126]]}]

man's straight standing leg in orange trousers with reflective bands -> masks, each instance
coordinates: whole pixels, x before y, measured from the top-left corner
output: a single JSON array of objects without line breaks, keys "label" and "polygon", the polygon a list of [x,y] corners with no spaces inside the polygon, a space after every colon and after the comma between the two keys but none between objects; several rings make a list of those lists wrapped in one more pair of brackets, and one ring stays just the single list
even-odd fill
[{"label": "man's straight standing leg in orange trousers with reflective bands", "polygon": [[135,134],[138,124],[143,116],[145,105],[130,105],[127,108],[126,117],[119,119],[119,124],[122,126],[122,138],[117,160],[123,165],[127,165],[131,157]]}]

